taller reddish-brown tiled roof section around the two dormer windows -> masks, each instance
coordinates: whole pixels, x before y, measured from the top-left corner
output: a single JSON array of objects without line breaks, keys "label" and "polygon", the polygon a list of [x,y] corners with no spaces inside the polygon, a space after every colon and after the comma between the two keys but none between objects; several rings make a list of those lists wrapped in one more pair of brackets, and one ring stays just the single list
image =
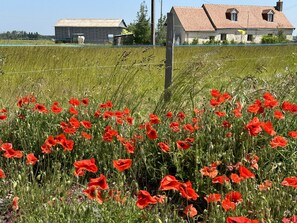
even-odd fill
[{"label": "taller reddish-brown tiled roof section around the two dormer windows", "polygon": [[[244,6],[244,5],[220,5],[204,4],[202,6],[208,13],[216,29],[227,28],[272,28],[272,29],[293,29],[283,12],[277,11],[272,6]],[[238,21],[231,21],[226,18],[226,11],[230,8],[238,10]],[[264,10],[273,10],[274,21],[268,22],[263,19]]]}]

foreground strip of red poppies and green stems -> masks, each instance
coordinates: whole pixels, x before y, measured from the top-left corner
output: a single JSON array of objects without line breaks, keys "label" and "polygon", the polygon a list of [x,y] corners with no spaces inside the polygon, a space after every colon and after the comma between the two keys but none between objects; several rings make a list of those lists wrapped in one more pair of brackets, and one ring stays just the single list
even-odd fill
[{"label": "foreground strip of red poppies and green stems", "polygon": [[24,95],[0,108],[1,221],[297,222],[288,85],[208,89],[147,113]]}]

